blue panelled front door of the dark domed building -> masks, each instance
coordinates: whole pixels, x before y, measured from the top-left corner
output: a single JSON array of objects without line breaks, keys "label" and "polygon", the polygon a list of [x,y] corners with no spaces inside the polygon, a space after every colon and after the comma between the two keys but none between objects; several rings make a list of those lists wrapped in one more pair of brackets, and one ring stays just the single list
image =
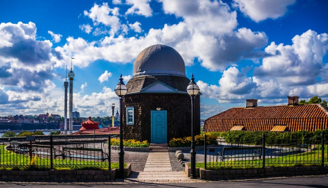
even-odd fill
[{"label": "blue panelled front door of the dark domed building", "polygon": [[152,110],[151,143],[167,143],[166,110]]}]

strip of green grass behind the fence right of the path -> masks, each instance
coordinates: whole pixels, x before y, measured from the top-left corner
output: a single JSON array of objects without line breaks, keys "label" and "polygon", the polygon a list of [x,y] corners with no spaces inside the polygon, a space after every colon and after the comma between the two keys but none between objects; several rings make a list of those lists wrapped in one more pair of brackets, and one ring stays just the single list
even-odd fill
[{"label": "strip of green grass behind the fence right of the path", "polygon": [[[327,160],[327,148],[325,147],[325,164]],[[207,163],[208,169],[244,169],[244,168],[260,168],[263,160],[236,160]],[[208,167],[210,165],[210,167]],[[286,155],[284,157],[274,157],[265,159],[266,167],[290,167],[290,166],[305,166],[305,165],[321,165],[321,150],[312,150],[311,152]],[[190,166],[190,164],[189,164]],[[196,167],[204,168],[204,163],[196,163]]]}]

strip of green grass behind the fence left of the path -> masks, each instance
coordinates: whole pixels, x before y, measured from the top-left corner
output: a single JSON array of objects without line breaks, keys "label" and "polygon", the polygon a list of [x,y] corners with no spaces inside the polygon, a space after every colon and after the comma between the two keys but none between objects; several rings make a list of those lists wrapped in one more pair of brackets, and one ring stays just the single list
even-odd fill
[{"label": "strip of green grass behind the fence left of the path", "polygon": [[[0,146],[0,170],[50,170],[51,160],[47,158],[29,157],[29,155],[16,154]],[[55,170],[108,170],[108,162],[84,161],[70,159],[53,159]],[[124,167],[127,164],[124,163]],[[111,163],[111,169],[118,168],[119,163]]]}]

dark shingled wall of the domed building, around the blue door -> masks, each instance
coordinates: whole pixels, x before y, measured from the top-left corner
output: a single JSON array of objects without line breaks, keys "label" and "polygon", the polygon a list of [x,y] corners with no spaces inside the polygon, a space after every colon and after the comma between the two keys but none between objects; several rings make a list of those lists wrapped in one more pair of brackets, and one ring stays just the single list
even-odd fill
[{"label": "dark shingled wall of the domed building, around the blue door", "polygon": [[[126,124],[126,107],[134,107],[135,124]],[[167,142],[191,135],[191,98],[188,94],[129,94],[123,98],[124,139],[151,142],[151,111],[167,111]],[[200,96],[195,98],[195,134],[200,134]]]}]

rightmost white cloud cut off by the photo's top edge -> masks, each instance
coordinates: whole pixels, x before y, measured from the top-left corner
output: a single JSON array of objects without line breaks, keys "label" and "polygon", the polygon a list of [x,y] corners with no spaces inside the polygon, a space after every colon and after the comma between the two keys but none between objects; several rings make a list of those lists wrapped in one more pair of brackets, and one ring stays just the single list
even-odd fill
[{"label": "rightmost white cloud cut off by the photo's top edge", "polygon": [[296,0],[234,0],[234,6],[238,7],[245,16],[253,21],[260,22],[267,18],[279,18],[287,12],[288,5]]}]

